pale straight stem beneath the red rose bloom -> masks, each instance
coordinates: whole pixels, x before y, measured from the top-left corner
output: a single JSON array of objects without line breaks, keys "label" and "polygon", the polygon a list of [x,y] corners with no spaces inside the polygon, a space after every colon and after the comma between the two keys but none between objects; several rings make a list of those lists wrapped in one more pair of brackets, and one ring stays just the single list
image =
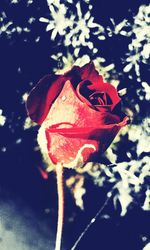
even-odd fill
[{"label": "pale straight stem beneath the red rose bloom", "polygon": [[64,221],[64,187],[63,187],[63,165],[56,165],[57,195],[58,195],[58,220],[55,250],[60,250],[62,240],[62,230]]}]

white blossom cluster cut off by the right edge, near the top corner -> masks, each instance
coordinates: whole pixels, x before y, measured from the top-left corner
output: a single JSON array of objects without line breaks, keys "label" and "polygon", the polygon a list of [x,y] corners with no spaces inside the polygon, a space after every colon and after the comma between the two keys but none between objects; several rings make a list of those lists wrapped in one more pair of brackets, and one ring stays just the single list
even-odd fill
[{"label": "white blossom cluster cut off by the right edge, near the top corner", "polygon": [[134,17],[133,26],[126,34],[132,39],[128,45],[129,52],[126,58],[128,63],[124,67],[124,72],[134,69],[140,81],[140,62],[148,63],[150,58],[150,5],[140,6],[139,12]]}]

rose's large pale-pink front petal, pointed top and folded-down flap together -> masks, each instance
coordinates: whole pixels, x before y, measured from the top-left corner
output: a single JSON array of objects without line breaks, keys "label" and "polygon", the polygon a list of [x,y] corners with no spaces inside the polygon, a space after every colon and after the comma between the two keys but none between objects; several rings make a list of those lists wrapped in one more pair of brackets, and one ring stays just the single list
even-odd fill
[{"label": "rose's large pale-pink front petal, pointed top and folded-down flap together", "polygon": [[[42,126],[46,129],[48,153],[53,163],[74,161],[84,145],[93,145],[103,152],[122,126],[117,115],[98,112],[79,100],[67,81],[53,103]],[[93,148],[82,152],[83,162],[93,154]]]}]

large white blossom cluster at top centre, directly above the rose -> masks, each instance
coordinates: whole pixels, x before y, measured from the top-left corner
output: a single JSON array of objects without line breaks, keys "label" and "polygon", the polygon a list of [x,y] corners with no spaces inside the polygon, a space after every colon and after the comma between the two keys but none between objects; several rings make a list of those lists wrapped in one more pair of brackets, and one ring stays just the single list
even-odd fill
[{"label": "large white blossom cluster at top centre, directly above the rose", "polygon": [[83,14],[80,2],[75,5],[76,10],[73,12],[67,3],[74,5],[73,1],[66,1],[66,5],[60,1],[47,0],[50,19],[41,17],[40,21],[47,23],[46,31],[51,31],[51,39],[55,40],[57,34],[63,37],[64,46],[72,46],[74,55],[77,58],[82,47],[88,47],[93,53],[97,53],[91,34],[100,40],[104,40],[104,28],[94,22],[94,17],[91,15],[92,5],[89,1],[85,1],[87,12]]}]

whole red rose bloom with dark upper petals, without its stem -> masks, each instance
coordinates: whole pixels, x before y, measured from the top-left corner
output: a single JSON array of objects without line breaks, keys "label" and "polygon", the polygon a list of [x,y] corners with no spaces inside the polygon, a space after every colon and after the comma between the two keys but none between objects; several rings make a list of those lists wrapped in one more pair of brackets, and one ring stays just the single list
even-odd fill
[{"label": "whole red rose bloom with dark upper petals, without its stem", "polygon": [[31,91],[27,110],[45,129],[54,164],[76,165],[104,152],[126,125],[116,89],[104,83],[93,63],[64,75],[47,75]]}]

